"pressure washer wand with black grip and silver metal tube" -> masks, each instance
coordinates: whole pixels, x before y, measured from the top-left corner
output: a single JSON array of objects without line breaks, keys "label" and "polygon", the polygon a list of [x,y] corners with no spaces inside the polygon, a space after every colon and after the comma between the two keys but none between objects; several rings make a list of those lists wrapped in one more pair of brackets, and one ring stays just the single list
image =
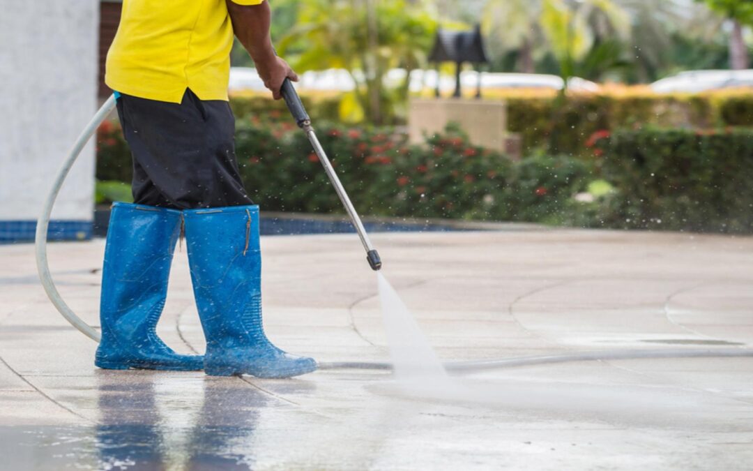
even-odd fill
[{"label": "pressure washer wand with black grip and silver metal tube", "polygon": [[288,109],[290,110],[291,115],[293,115],[298,127],[306,133],[306,137],[309,138],[309,142],[311,142],[317,157],[319,157],[319,161],[322,162],[322,165],[325,167],[325,172],[327,173],[330,182],[332,182],[335,191],[337,191],[337,196],[340,197],[340,201],[343,202],[343,206],[345,206],[345,210],[348,212],[350,221],[355,226],[355,230],[358,231],[358,237],[361,237],[361,243],[364,244],[364,249],[366,249],[366,259],[368,260],[371,269],[373,271],[379,270],[382,268],[382,260],[380,259],[379,252],[377,252],[377,250],[371,245],[364,224],[361,222],[361,218],[358,217],[358,213],[355,212],[355,207],[353,207],[353,203],[350,202],[350,198],[348,197],[345,188],[343,188],[343,184],[340,182],[340,179],[337,178],[337,173],[334,172],[334,168],[332,167],[329,158],[327,158],[327,154],[325,153],[324,148],[322,148],[322,144],[319,143],[314,128],[311,126],[311,118],[309,118],[309,114],[306,113],[306,109],[303,108],[303,102],[300,101],[300,96],[298,96],[298,93],[295,91],[293,83],[289,78],[285,78],[285,81],[282,82],[280,93],[282,94],[282,98],[285,99],[285,103],[288,105]]}]

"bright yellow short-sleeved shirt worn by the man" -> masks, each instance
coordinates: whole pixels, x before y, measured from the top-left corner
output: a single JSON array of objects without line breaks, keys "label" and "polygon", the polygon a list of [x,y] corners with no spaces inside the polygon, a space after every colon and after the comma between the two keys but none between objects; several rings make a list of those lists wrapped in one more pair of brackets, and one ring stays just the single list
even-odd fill
[{"label": "bright yellow short-sleeved shirt worn by the man", "polygon": [[232,47],[225,0],[123,0],[105,83],[118,92],[163,102],[181,102],[186,88],[200,99],[227,100]]}]

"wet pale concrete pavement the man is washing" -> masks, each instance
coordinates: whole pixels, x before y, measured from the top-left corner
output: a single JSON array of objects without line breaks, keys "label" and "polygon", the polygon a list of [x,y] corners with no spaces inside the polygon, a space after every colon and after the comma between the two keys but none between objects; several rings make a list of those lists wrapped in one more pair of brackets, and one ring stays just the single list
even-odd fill
[{"label": "wet pale concrete pavement the man is washing", "polygon": [[[443,359],[751,348],[753,238],[526,230],[375,234]],[[320,362],[387,361],[355,235],[263,238],[270,338]],[[50,245],[98,323],[104,243]],[[753,358],[494,369],[406,396],[385,372],[286,381],[105,372],[47,301],[31,245],[0,246],[0,469],[750,469]],[[184,249],[160,335],[203,350]]]}]

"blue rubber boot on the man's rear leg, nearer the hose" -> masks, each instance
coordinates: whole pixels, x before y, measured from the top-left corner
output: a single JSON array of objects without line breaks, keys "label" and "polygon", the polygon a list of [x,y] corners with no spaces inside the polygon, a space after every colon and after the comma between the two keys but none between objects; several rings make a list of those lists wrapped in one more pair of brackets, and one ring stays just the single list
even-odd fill
[{"label": "blue rubber boot on the man's rear leg, nearer the hose", "polygon": [[203,369],[203,357],[179,355],[157,337],[181,212],[114,203],[102,268],[102,340],[94,364],[103,369]]}]

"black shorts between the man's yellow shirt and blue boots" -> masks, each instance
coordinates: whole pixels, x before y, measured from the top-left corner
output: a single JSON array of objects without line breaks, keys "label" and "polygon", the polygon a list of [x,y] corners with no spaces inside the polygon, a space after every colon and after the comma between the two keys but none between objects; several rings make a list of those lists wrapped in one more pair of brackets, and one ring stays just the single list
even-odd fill
[{"label": "black shorts between the man's yellow shirt and blue boots", "polygon": [[235,118],[221,100],[186,90],[180,104],[120,94],[133,156],[134,203],[176,210],[253,204],[235,155]]}]

